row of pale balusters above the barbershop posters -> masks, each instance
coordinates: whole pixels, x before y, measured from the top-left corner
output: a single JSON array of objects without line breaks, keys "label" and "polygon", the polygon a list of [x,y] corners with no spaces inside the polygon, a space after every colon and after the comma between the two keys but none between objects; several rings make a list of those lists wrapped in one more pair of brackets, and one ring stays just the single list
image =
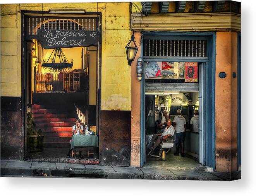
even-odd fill
[{"label": "row of pale balusters above the barbershop posters", "polygon": [[206,40],[144,39],[143,56],[207,57]]}]

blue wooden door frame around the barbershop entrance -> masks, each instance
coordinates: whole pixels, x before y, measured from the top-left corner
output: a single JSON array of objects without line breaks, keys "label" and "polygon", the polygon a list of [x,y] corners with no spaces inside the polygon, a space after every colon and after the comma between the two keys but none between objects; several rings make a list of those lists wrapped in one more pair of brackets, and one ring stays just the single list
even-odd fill
[{"label": "blue wooden door frame around the barbershop entrance", "polygon": [[[174,32],[174,31],[152,31],[142,32],[141,39],[141,56],[143,56],[143,37],[172,37],[173,39],[206,39],[207,40],[207,57],[208,59],[175,59],[172,61],[196,61],[206,63],[205,75],[205,164],[215,167],[215,57],[216,57],[216,33],[215,32]],[[171,60],[171,59],[170,59]],[[146,61],[167,61],[167,59],[147,59]],[[144,60],[143,60],[144,65]],[[143,66],[144,68],[144,66]],[[145,77],[141,80],[141,151],[140,166],[143,167],[145,162]],[[210,131],[209,131],[210,130]]]}]

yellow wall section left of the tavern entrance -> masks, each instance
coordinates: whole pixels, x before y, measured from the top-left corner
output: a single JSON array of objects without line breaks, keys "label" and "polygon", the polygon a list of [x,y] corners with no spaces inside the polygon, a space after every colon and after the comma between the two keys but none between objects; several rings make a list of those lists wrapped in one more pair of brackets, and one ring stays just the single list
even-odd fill
[{"label": "yellow wall section left of the tavern entrance", "polygon": [[1,96],[21,97],[21,17],[16,12],[17,4],[1,5]]}]

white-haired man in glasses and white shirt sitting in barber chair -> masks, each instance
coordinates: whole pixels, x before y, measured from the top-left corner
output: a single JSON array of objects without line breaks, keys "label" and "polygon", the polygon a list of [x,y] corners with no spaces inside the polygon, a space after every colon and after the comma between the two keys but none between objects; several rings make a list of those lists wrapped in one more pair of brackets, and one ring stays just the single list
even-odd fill
[{"label": "white-haired man in glasses and white shirt sitting in barber chair", "polygon": [[149,148],[150,148],[150,152],[149,155],[151,155],[156,147],[158,147],[158,145],[160,143],[162,143],[162,141],[167,141],[168,137],[172,137],[174,136],[174,127],[172,126],[172,120],[171,119],[167,119],[166,121],[167,127],[165,127],[165,130],[163,131],[163,133],[156,133],[152,136],[152,140],[150,142]]}]

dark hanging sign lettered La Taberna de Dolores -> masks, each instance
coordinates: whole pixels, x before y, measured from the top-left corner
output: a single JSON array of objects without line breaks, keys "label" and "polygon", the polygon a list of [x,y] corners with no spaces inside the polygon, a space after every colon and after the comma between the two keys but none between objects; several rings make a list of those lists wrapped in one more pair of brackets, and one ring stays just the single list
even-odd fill
[{"label": "dark hanging sign lettered La Taberna de Dolores", "polygon": [[38,29],[38,39],[45,49],[97,46],[99,33],[98,31]]}]

